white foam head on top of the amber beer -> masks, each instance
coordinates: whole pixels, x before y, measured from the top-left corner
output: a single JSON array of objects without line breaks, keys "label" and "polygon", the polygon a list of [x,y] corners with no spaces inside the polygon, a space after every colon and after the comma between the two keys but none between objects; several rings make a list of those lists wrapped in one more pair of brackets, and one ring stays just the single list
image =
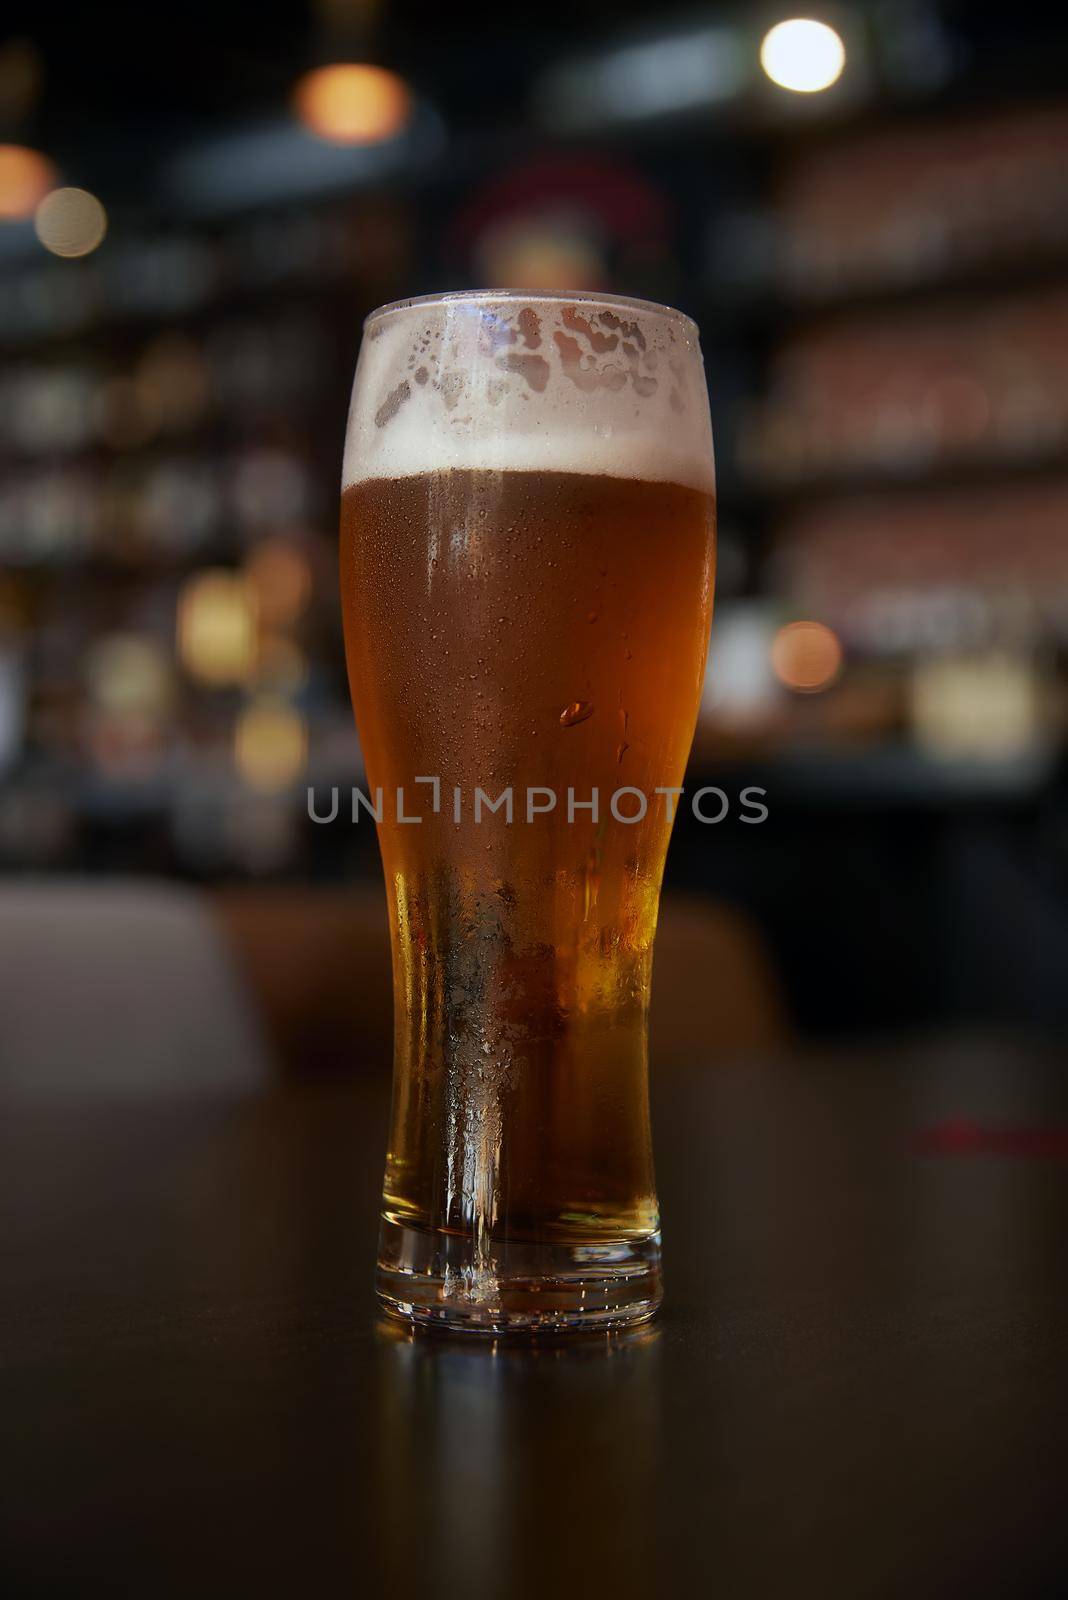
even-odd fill
[{"label": "white foam head on top of the amber beer", "polygon": [[369,318],[342,485],[590,472],[715,490],[697,328],[612,298],[446,296]]}]

